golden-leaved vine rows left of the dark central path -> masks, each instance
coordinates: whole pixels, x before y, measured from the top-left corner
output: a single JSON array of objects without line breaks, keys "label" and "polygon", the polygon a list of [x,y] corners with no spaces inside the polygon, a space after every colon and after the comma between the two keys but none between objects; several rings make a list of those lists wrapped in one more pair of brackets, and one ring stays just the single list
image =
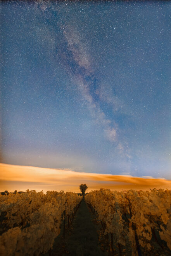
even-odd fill
[{"label": "golden-leaved vine rows left of the dark central path", "polygon": [[72,192],[47,191],[0,195],[0,255],[40,255],[60,234],[62,220],[71,220],[81,201]]}]

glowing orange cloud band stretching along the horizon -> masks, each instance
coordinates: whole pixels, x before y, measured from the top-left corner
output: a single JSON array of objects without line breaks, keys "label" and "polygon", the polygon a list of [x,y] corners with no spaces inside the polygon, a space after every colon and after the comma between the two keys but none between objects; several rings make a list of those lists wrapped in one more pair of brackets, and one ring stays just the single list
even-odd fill
[{"label": "glowing orange cloud band stretching along the horizon", "polygon": [[69,169],[48,169],[0,163],[0,191],[35,189],[80,192],[79,185],[86,183],[88,192],[105,188],[111,190],[171,189],[171,180],[140,178],[124,175],[75,172]]}]

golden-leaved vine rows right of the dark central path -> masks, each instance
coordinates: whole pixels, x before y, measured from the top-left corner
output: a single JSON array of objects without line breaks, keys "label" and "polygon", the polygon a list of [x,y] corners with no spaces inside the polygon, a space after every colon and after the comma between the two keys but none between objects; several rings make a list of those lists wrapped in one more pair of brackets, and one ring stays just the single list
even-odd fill
[{"label": "golden-leaved vine rows right of the dark central path", "polygon": [[171,190],[95,190],[85,196],[112,255],[171,255]]}]

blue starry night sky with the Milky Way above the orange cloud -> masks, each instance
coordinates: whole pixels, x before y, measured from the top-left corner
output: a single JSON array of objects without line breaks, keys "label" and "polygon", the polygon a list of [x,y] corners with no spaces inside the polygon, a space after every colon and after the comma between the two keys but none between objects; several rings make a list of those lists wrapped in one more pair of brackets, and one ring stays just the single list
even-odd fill
[{"label": "blue starry night sky with the Milky Way above the orange cloud", "polygon": [[2,163],[171,178],[171,2],[1,2]]}]

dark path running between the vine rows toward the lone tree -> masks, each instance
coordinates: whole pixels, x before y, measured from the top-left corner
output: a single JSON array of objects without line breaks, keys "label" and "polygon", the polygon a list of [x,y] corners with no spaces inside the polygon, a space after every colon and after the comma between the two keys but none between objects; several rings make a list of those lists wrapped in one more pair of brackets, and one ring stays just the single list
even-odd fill
[{"label": "dark path running between the vine rows toward the lone tree", "polygon": [[55,239],[51,256],[55,255],[107,256],[107,253],[100,250],[98,233],[92,222],[92,213],[84,200],[81,201],[71,228],[66,232],[65,239],[62,234]]}]

